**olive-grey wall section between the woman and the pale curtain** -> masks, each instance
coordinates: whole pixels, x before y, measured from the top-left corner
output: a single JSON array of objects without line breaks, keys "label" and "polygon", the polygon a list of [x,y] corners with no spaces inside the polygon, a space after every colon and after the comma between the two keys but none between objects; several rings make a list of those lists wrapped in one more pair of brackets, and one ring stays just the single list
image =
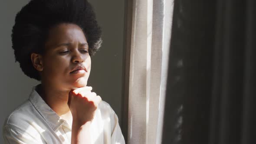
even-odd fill
[{"label": "olive-grey wall section between the woman and the pale curtain", "polygon": [[125,0],[89,0],[102,27],[103,43],[92,57],[89,78],[93,90],[107,101],[121,120],[121,85]]}]

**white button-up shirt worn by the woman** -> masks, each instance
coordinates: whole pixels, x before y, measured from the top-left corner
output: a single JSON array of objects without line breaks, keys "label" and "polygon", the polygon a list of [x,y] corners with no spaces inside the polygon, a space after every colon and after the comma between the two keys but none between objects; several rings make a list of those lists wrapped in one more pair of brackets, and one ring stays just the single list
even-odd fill
[{"label": "white button-up shirt worn by the woman", "polygon": [[[5,144],[70,144],[71,126],[53,111],[36,92],[16,108],[3,124]],[[125,144],[118,117],[105,101],[92,120],[92,144]]]}]

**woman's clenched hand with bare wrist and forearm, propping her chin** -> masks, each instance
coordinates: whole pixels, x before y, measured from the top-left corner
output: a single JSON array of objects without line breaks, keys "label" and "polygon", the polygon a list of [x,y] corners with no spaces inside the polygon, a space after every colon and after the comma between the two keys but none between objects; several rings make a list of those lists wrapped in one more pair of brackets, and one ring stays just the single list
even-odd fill
[{"label": "woman's clenched hand with bare wrist and forearm, propping her chin", "polygon": [[102,98],[91,92],[92,87],[82,87],[69,92],[69,109],[72,113],[71,144],[90,144],[90,126],[95,110]]}]

